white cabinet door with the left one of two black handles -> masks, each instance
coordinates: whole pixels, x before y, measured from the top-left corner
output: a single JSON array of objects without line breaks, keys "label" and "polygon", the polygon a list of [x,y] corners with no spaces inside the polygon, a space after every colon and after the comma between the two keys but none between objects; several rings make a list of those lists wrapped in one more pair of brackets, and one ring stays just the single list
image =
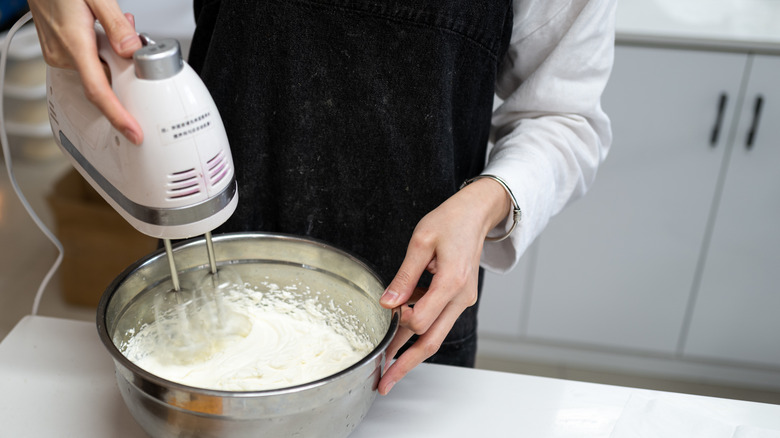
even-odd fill
[{"label": "white cabinet door with the left one of two black handles", "polygon": [[617,48],[603,99],[613,146],[541,236],[529,336],[676,351],[746,58]]}]

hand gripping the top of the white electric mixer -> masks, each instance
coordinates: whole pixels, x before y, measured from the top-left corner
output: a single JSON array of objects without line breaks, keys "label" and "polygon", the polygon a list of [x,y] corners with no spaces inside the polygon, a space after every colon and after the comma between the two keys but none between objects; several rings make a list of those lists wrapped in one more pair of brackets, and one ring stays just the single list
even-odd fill
[{"label": "hand gripping the top of the white electric mixer", "polygon": [[28,0],[28,4],[46,63],[78,71],[87,99],[128,140],[141,144],[141,125],[111,89],[98,58],[95,36],[97,19],[114,51],[131,57],[141,48],[133,16],[123,14],[116,0]]}]

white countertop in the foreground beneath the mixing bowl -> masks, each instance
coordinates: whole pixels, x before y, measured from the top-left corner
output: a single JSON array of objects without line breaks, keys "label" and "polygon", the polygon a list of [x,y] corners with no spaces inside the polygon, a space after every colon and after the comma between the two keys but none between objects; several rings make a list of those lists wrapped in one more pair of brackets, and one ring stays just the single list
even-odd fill
[{"label": "white countertop in the foreground beneath the mixing bowl", "polygon": [[[423,364],[351,438],[780,438],[780,406]],[[0,343],[0,436],[145,436],[92,323],[22,319]]]}]

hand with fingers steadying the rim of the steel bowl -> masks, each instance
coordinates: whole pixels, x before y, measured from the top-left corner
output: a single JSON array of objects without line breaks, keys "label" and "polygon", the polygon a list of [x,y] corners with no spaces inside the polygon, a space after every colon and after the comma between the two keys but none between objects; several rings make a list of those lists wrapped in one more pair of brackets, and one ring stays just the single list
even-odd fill
[{"label": "hand with fingers steadying the rim of the steel bowl", "polygon": [[[504,188],[482,178],[417,224],[406,257],[380,299],[386,308],[401,306],[400,327],[387,348],[388,362],[413,334],[420,337],[382,375],[380,394],[390,392],[406,373],[436,353],[455,320],[477,302],[482,245],[488,232],[507,216],[509,206]],[[417,281],[425,270],[433,280],[415,301]]]}]

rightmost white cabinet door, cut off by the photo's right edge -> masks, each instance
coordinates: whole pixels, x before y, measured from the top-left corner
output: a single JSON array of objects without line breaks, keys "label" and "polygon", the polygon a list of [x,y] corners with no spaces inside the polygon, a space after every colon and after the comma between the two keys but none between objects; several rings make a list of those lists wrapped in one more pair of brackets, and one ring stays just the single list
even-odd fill
[{"label": "rightmost white cabinet door, cut off by the photo's right edge", "polygon": [[780,366],[779,81],[780,57],[753,59],[686,354]]}]

